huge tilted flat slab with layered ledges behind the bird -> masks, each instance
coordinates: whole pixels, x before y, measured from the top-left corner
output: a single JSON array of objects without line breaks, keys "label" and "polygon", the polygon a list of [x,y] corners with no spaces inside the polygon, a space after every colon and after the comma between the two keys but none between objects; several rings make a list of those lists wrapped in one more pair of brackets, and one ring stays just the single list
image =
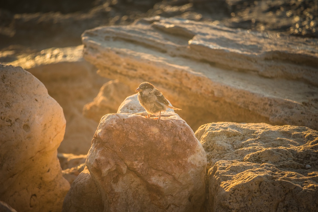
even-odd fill
[{"label": "huge tilted flat slab with layered ledges behind the bird", "polygon": [[145,18],[82,35],[84,58],[131,90],[149,81],[192,127],[232,121],[318,130],[315,39]]}]

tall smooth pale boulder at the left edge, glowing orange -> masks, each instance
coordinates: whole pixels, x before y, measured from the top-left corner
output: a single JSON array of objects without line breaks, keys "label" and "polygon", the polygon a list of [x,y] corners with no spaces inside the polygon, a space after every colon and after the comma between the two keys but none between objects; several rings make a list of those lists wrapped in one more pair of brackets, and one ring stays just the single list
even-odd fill
[{"label": "tall smooth pale boulder at the left edge, glowing orange", "polygon": [[21,67],[0,65],[0,92],[0,199],[17,211],[60,211],[70,188],[57,158],[62,108]]}]

